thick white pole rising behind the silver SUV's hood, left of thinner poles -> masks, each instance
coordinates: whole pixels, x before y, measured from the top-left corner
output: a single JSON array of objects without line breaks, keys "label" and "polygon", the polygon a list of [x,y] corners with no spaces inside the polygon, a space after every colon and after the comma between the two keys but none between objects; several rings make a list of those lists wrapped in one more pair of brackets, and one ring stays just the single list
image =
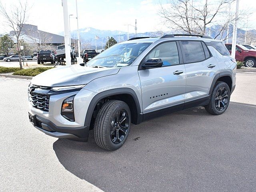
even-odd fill
[{"label": "thick white pole rising behind the silver SUV's hood, left of thinner poles", "polygon": [[71,65],[70,56],[70,36],[68,33],[68,0],[62,0],[63,8],[63,20],[64,20],[64,42],[65,42],[65,55],[66,55],[66,65]]}]

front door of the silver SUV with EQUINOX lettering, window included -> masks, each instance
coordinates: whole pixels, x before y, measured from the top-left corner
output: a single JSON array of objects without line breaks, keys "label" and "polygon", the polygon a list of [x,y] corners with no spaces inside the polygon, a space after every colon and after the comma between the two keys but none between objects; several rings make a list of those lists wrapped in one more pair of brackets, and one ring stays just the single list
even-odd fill
[{"label": "front door of the silver SUV with EQUINOX lettering, window included", "polygon": [[162,109],[166,112],[166,108],[170,107],[168,110],[171,110],[173,106],[176,110],[182,110],[186,92],[186,70],[179,56],[177,42],[164,42],[156,46],[143,62],[150,58],[162,59],[163,66],[138,70],[143,113]]}]

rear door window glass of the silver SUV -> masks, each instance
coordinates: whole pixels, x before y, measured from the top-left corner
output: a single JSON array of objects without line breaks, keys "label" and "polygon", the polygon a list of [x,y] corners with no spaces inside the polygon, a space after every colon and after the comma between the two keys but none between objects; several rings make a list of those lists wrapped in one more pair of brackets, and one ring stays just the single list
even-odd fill
[{"label": "rear door window glass of the silver SUV", "polygon": [[205,60],[204,49],[200,41],[181,41],[185,63]]}]

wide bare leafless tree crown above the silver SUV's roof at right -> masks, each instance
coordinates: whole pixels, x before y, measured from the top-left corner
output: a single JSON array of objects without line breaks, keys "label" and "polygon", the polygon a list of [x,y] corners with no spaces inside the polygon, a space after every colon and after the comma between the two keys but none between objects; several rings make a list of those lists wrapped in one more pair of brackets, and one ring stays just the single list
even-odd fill
[{"label": "wide bare leafless tree crown above the silver SUV's roof at right", "polygon": [[[167,0],[167,4],[160,3],[158,14],[163,18],[166,26],[178,32],[205,35],[207,26],[218,26],[214,36],[224,40],[232,32],[232,30],[227,32],[228,25],[235,20],[234,14],[229,15],[227,11],[233,1]],[[242,16],[244,12],[240,12],[239,17]]]}]

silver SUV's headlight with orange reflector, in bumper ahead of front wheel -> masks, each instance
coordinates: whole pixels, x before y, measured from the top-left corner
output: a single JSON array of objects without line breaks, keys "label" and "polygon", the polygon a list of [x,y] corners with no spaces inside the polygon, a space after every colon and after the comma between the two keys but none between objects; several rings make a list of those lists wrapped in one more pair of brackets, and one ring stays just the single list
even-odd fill
[{"label": "silver SUV's headlight with orange reflector, in bumper ahead of front wheel", "polygon": [[75,116],[74,116],[74,97],[75,96],[76,95],[72,95],[66,98],[62,102],[61,115],[69,121],[75,121]]}]

